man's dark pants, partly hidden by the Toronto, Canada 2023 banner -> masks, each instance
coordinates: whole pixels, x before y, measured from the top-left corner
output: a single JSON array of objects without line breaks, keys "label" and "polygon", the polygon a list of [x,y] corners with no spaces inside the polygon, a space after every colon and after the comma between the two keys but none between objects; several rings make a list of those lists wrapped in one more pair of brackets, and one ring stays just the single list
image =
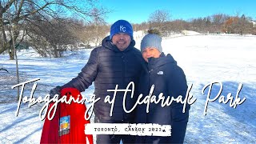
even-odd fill
[{"label": "man's dark pants, partly hidden by the Toronto, Canada 2023 banner", "polygon": [[[113,120],[103,120],[97,117],[94,118],[95,123],[129,123],[127,121],[113,121]],[[108,144],[108,143],[120,143],[122,140],[123,144],[134,143],[135,136],[133,135],[121,135],[121,134],[98,134],[96,136],[97,144]]]}]

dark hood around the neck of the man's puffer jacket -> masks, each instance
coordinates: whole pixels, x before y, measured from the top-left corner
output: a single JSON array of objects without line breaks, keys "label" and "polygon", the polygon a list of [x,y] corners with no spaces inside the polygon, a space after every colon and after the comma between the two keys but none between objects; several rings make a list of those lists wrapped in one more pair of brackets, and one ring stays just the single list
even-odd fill
[{"label": "dark hood around the neck of the man's puffer jacket", "polygon": [[[115,46],[113,44],[113,42],[111,41],[110,39],[110,36],[107,36],[106,38],[104,38],[102,40],[102,46],[103,47],[106,47],[107,49],[110,49],[110,50],[114,50],[114,51],[117,51],[117,52],[122,52],[121,50],[118,49],[117,46]],[[130,45],[126,48],[126,50],[123,50],[123,51],[128,51],[128,50],[131,50],[133,47],[135,46],[135,41],[132,40],[130,42]]]}]

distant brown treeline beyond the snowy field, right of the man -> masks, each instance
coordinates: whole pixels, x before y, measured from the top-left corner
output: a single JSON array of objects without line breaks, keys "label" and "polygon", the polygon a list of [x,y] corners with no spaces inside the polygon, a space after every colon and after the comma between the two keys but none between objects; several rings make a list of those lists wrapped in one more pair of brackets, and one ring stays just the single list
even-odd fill
[{"label": "distant brown treeline beyond the snowy field, right of the man", "polygon": [[[163,34],[180,33],[182,30],[194,30],[207,34],[254,34],[256,35],[256,25],[252,18],[245,14],[230,16],[227,14],[213,14],[205,18],[192,18],[189,21],[182,19],[156,21],[158,15],[154,15],[149,22],[134,24],[134,30],[146,30],[150,27],[158,28]],[[161,17],[161,14],[159,14]]]}]

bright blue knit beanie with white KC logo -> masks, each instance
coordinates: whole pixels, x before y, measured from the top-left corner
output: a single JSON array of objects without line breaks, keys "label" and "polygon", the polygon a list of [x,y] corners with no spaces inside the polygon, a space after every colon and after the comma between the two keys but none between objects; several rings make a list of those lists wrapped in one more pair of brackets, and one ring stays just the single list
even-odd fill
[{"label": "bright blue knit beanie with white KC logo", "polygon": [[110,28],[110,39],[113,38],[114,34],[126,33],[133,39],[133,26],[130,25],[126,20],[118,20]]}]

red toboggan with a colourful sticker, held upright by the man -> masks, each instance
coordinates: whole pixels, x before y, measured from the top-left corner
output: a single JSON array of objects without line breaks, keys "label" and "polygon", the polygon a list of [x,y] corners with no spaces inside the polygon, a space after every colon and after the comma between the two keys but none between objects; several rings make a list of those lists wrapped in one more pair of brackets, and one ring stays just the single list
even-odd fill
[{"label": "red toboggan with a colourful sticker, held upright by the man", "polygon": [[[61,97],[64,95],[66,95],[67,101],[71,95],[74,99],[78,97],[79,100],[82,99],[82,94],[75,88],[62,89]],[[53,102],[50,103],[47,110],[40,143],[93,143],[93,136],[85,134],[85,124],[90,123],[84,117],[86,113],[85,104],[59,102],[54,118],[49,120],[47,117],[48,111],[53,105]],[[86,141],[86,139],[88,140]]]}]

